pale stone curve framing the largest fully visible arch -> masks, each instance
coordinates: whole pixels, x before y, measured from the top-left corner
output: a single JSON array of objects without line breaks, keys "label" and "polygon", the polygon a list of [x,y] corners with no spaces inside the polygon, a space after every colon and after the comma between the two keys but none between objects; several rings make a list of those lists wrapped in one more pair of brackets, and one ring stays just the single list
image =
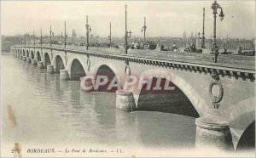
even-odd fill
[{"label": "pale stone curve framing the largest fully visible arch", "polygon": [[[178,76],[173,71],[168,70],[160,70],[160,69],[152,69],[148,71],[144,71],[140,74],[140,76],[171,76],[171,81],[173,85],[177,87],[177,92],[180,96],[185,98],[186,104],[188,104],[189,108],[192,110],[195,108],[193,116],[204,116],[209,111],[209,107],[204,99],[201,98],[201,95],[196,92],[196,90],[190,86],[189,82],[187,82],[183,77]],[[135,102],[139,104],[140,95],[143,94],[141,90],[132,90],[135,97]],[[189,104],[189,102],[191,104]]]}]

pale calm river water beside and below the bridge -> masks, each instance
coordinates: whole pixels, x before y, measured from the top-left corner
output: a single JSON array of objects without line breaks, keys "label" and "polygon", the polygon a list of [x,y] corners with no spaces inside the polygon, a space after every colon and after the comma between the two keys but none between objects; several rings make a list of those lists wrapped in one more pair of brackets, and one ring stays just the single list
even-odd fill
[{"label": "pale calm river water beside and below the bridge", "polygon": [[[2,146],[10,154],[45,146],[192,149],[195,118],[154,111],[115,109],[115,93],[83,93],[79,82],[2,55]],[[63,150],[63,149],[57,149]],[[23,150],[26,153],[26,150]],[[27,155],[31,156],[31,155]]]}]

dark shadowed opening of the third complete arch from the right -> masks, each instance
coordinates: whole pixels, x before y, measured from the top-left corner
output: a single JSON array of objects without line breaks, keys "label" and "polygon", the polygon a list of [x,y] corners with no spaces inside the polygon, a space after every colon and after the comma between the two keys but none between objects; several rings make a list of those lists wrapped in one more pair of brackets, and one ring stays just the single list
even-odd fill
[{"label": "dark shadowed opening of the third complete arch from the right", "polygon": [[70,71],[70,80],[79,81],[80,77],[85,76],[83,65],[79,62],[79,59],[73,59]]}]

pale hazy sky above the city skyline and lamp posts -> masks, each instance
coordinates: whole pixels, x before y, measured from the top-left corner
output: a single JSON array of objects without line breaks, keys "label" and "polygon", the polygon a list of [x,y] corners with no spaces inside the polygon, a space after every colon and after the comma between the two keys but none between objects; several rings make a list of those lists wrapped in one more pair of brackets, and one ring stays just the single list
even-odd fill
[{"label": "pale hazy sky above the city skyline and lamp posts", "polygon": [[[143,37],[143,19],[146,17],[149,37],[187,37],[191,32],[202,32],[202,10],[206,8],[205,35],[213,31],[213,1],[1,1],[1,34],[14,36],[35,31],[39,36],[49,35],[49,25],[55,35],[67,35],[74,29],[85,36],[86,14],[91,33],[108,37],[109,23],[112,36],[125,35],[125,4],[127,4],[128,31],[131,36]],[[224,20],[217,19],[217,37],[255,37],[255,1],[218,1],[224,9]],[[220,10],[218,10],[218,13]]]}]

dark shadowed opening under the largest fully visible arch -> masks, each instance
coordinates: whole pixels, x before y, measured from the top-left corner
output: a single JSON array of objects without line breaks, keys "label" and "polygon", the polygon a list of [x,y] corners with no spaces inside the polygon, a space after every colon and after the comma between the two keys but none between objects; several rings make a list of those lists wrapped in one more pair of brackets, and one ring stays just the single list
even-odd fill
[{"label": "dark shadowed opening under the largest fully visible arch", "polygon": [[[158,81],[160,81],[160,88],[155,90],[154,87]],[[174,87],[174,89],[165,90],[166,83],[168,87]],[[151,85],[150,88],[147,88],[148,84]],[[137,110],[159,111],[195,118],[200,116],[183,91],[165,77],[153,77],[143,84]]]}]

